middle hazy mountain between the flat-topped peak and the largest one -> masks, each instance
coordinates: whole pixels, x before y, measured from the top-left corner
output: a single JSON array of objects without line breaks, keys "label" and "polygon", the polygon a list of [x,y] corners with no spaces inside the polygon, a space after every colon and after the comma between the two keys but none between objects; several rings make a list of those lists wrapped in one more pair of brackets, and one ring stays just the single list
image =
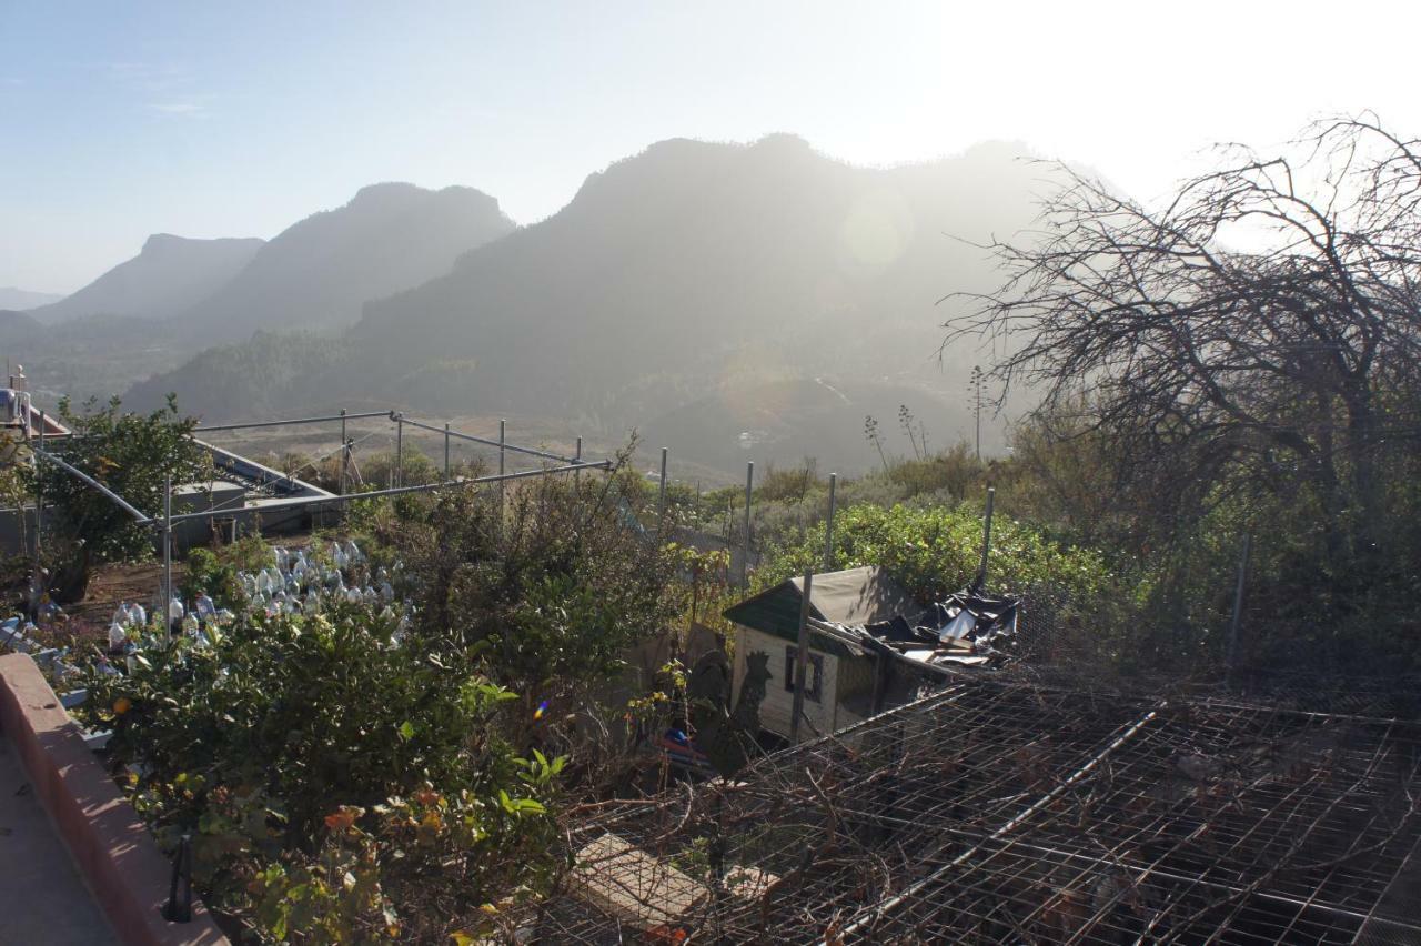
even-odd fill
[{"label": "middle hazy mountain between the flat-topped peak and the largest one", "polygon": [[185,328],[210,344],[259,328],[348,325],[367,300],[448,273],[459,254],[513,226],[497,200],[472,187],[364,187],[345,206],[273,237],[240,274],[185,314]]}]

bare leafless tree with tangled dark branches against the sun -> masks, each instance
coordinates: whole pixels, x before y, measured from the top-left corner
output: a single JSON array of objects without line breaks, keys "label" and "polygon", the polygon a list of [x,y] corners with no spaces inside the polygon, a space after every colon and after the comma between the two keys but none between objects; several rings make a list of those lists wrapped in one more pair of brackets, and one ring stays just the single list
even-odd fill
[{"label": "bare leafless tree with tangled dark branches against the sun", "polygon": [[948,341],[1003,342],[1003,391],[1049,408],[1090,391],[1123,467],[1175,504],[1302,487],[1333,551],[1373,548],[1381,466],[1418,433],[1421,139],[1367,115],[1219,156],[1160,207],[1056,166],[1040,229],[989,244],[1005,281]]}]

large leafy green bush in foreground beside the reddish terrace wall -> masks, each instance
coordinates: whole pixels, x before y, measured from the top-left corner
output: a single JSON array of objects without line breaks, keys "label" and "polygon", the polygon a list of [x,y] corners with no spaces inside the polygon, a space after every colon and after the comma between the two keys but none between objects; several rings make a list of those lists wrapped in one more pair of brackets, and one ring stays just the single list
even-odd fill
[{"label": "large leafy green bush in foreground beside the reddish terrace wall", "polygon": [[360,607],[242,618],[90,675],[80,714],[141,773],[159,841],[190,834],[209,901],[264,937],[438,937],[546,879],[564,764],[504,737],[534,722],[489,648],[443,643]]}]

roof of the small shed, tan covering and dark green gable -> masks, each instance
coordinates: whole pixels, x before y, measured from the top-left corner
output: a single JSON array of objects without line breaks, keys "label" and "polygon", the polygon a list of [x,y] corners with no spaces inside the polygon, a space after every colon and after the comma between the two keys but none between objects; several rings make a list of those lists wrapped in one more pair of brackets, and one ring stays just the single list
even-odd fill
[{"label": "roof of the small shed, tan covering and dark green gable", "polygon": [[[725,618],[786,641],[797,641],[803,595],[803,575],[790,578],[732,605],[725,611]],[[809,609],[810,616],[820,621],[863,626],[901,614],[917,614],[922,608],[888,572],[878,565],[865,565],[814,575]]]}]

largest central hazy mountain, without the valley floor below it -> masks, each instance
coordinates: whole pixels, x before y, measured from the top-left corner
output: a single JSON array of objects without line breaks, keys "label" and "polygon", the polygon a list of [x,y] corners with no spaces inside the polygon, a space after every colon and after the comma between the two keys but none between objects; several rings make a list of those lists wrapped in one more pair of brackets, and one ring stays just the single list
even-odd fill
[{"label": "largest central hazy mountain, without the valley floor below it", "polygon": [[455,271],[367,305],[351,337],[371,381],[463,359],[456,398],[610,418],[774,372],[917,374],[942,295],[980,288],[982,239],[1030,217],[1006,148],[890,170],[796,138],[669,141],[593,175],[549,220]]}]

